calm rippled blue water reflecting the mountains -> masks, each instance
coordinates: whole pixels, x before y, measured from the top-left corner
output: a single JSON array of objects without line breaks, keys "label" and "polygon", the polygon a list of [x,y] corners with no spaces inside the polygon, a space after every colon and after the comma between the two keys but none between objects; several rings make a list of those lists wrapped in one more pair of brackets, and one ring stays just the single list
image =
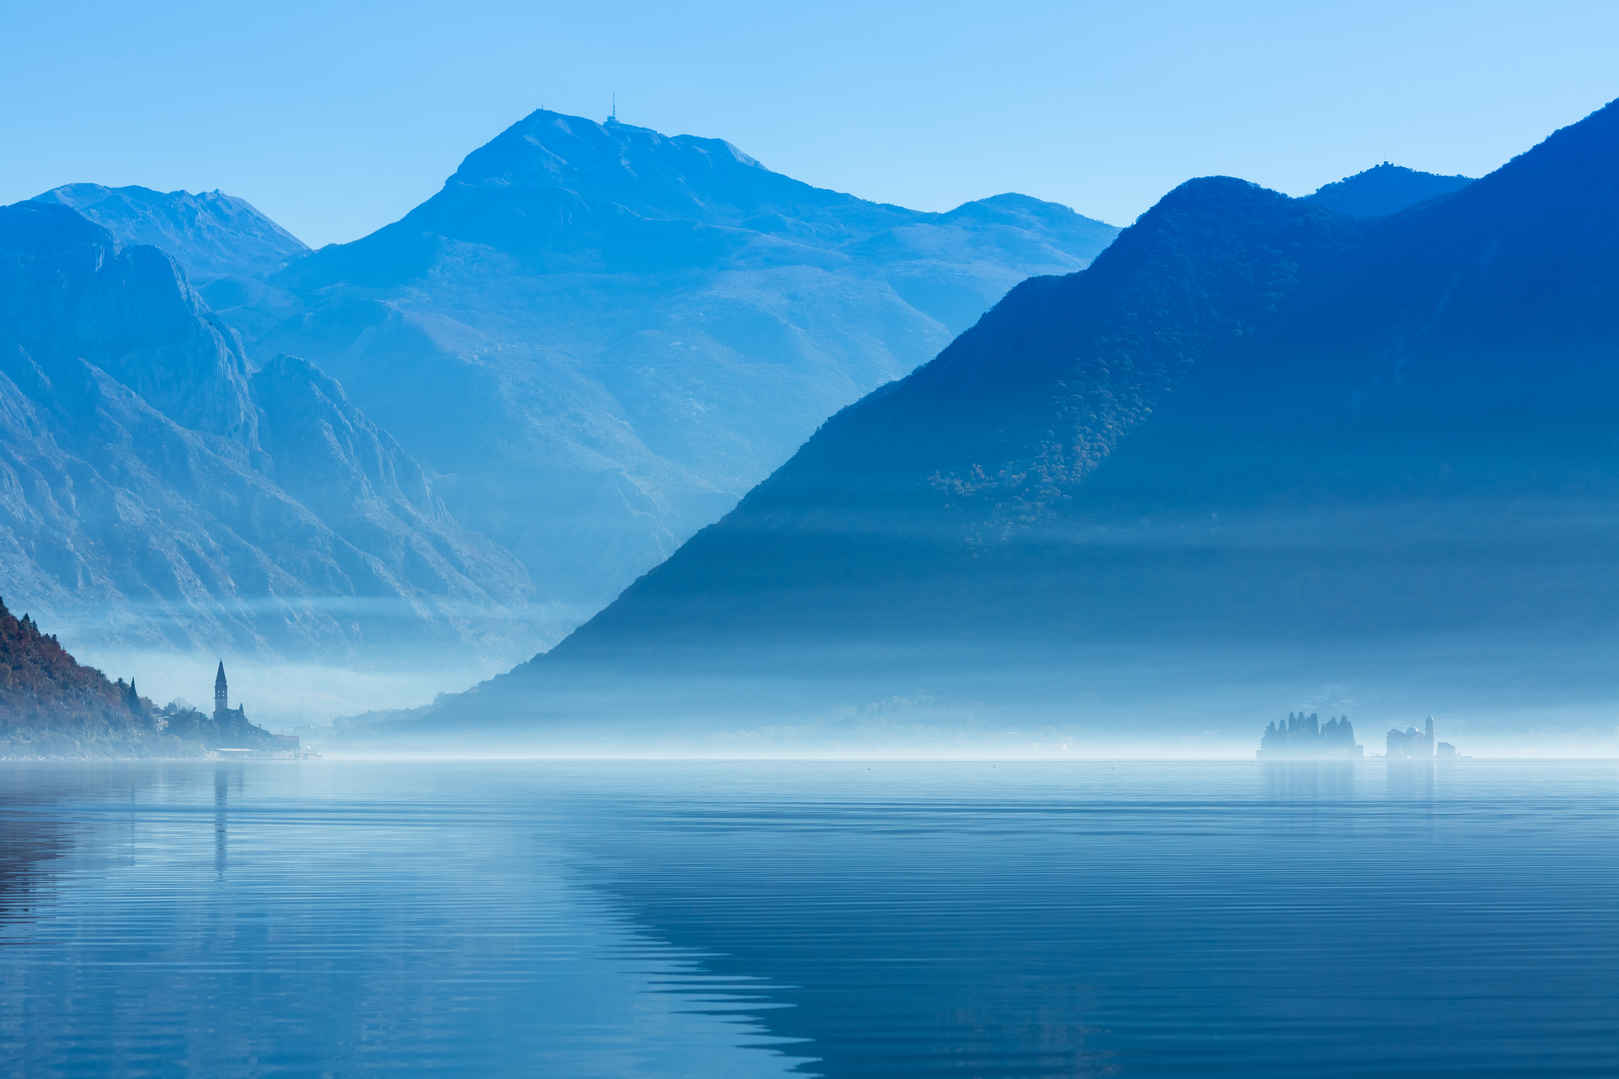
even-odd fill
[{"label": "calm rippled blue water reflecting the mountains", "polygon": [[0,766],[0,1074],[1619,1076],[1619,765]]}]

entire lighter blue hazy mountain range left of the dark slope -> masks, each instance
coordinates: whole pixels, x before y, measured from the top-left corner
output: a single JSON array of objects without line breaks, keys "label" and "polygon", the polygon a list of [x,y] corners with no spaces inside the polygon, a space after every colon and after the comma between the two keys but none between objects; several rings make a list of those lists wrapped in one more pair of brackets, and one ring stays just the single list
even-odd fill
[{"label": "entire lighter blue hazy mountain range left of the dark slope", "polygon": [[217,191],[55,188],[0,211],[8,595],[81,645],[521,655],[1114,235],[549,112],[321,251]]}]

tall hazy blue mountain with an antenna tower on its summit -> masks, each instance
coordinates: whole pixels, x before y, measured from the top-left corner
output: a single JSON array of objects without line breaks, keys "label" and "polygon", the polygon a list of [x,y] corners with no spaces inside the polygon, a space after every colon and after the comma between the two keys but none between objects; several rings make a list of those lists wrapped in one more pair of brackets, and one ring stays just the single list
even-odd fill
[{"label": "tall hazy blue mountain with an antenna tower on its summit", "polygon": [[222,314],[253,355],[335,374],[458,518],[588,611],[831,412],[1114,233],[1012,194],[882,206],[719,139],[536,112]]}]

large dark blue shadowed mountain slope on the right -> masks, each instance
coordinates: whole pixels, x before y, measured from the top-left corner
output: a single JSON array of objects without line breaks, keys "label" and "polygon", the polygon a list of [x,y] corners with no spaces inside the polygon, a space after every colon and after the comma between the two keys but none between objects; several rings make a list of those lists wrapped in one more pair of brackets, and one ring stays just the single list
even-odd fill
[{"label": "large dark blue shadowed mountain slope on the right", "polygon": [[1193,180],[398,731],[1172,748],[1329,693],[1609,714],[1616,248],[1619,105],[1384,217]]}]

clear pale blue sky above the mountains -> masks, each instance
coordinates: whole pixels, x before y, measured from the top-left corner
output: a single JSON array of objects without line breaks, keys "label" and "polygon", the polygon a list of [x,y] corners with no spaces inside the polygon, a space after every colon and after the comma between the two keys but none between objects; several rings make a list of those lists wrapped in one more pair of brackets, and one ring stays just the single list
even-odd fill
[{"label": "clear pale blue sky above the mountains", "polygon": [[359,237],[544,105],[923,209],[1128,224],[1193,175],[1481,173],[1619,96],[1619,5],[0,0],[0,203],[222,188]]}]

